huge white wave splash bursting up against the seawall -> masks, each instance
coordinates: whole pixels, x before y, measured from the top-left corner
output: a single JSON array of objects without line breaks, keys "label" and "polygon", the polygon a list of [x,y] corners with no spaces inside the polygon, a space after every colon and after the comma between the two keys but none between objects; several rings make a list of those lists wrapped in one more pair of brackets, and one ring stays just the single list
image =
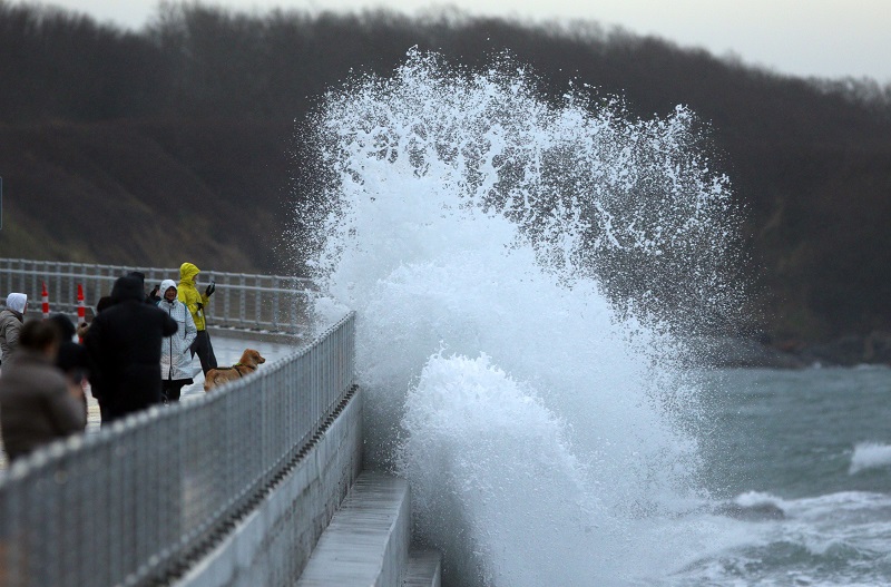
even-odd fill
[{"label": "huge white wave splash bursting up against the seawall", "polygon": [[675,130],[683,109],[629,121],[532,87],[511,63],[470,74],[412,52],[392,78],[326,96],[307,136],[327,168],[326,203],[305,216],[323,236],[316,309],[358,312],[366,463],[408,476],[415,536],[446,550],[448,580],[658,576],[695,551],[650,520],[698,497],[695,436],[678,427],[695,424],[696,385],[652,302],[675,277],[623,291],[607,268],[672,268],[681,241],[721,235],[724,192],[682,192],[723,179],[677,164],[698,160]]}]

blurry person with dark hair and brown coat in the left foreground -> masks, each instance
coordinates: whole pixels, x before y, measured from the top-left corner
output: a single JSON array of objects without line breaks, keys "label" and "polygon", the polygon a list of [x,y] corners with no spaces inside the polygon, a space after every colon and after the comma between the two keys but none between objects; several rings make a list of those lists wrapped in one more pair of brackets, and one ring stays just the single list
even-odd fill
[{"label": "blurry person with dark hair and brown coat in the left foreground", "polygon": [[84,430],[81,398],[52,365],[59,331],[50,321],[32,320],[19,333],[19,350],[0,376],[0,427],[10,461],[36,448]]}]

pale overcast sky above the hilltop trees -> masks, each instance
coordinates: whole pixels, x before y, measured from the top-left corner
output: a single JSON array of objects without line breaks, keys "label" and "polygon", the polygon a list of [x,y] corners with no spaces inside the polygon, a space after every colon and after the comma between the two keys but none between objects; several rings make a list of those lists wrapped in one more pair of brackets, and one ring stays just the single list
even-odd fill
[{"label": "pale overcast sky above the hilltop trees", "polygon": [[[20,0],[31,3],[32,0]],[[157,0],[48,0],[101,21],[138,29]],[[523,19],[586,19],[656,35],[717,56],[781,74],[870,77],[891,84],[891,0],[212,0],[244,11],[271,8],[361,10],[385,7],[413,16],[419,9],[456,6],[470,14]],[[408,49],[408,48],[407,48]]]}]

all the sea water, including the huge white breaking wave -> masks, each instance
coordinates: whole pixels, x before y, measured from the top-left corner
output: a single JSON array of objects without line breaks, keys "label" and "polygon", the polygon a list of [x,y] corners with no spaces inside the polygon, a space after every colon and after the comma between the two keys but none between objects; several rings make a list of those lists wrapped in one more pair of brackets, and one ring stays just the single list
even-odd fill
[{"label": "all the sea water, including the huge white breaking wave", "polygon": [[509,57],[471,72],[412,51],[301,131],[316,164],[294,242],[326,292],[316,316],[358,313],[365,462],[409,480],[443,584],[887,576],[891,459],[878,421],[836,438],[850,389],[802,423],[829,371],[774,388],[691,368],[687,336],[734,323],[746,295],[707,128],[537,87]]}]

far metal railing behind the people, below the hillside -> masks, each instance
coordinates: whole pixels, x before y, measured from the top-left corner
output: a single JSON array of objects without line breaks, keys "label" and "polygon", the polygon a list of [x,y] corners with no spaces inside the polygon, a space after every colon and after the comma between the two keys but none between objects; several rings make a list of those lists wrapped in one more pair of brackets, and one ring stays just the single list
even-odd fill
[{"label": "far metal railing behind the people, below the hillside", "polygon": [[[85,304],[95,309],[100,297],[111,293],[115,280],[130,271],[145,273],[148,290],[163,280],[179,282],[179,268],[0,258],[0,304],[8,293],[20,292],[28,295],[29,313],[38,314],[46,284],[50,312],[76,315],[78,284],[82,286]],[[204,291],[210,280],[216,281],[216,292],[206,309],[208,325],[305,333],[309,300],[316,293],[311,280],[202,271],[199,291]]]}]

